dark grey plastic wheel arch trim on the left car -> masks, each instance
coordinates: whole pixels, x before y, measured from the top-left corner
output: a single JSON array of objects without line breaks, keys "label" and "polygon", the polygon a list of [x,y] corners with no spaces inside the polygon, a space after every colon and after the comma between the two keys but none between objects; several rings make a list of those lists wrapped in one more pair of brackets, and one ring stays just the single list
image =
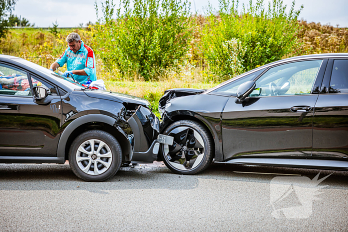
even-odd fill
[{"label": "dark grey plastic wheel arch trim on the left car", "polygon": [[[106,123],[106,124],[114,127],[116,119],[114,119],[110,116],[107,116],[107,115],[103,115],[103,114],[88,114],[88,115],[84,115],[84,116],[81,116],[80,118],[75,119],[64,129],[64,131],[59,139],[58,148],[57,148],[57,157],[65,158],[65,146],[68,142],[69,136],[71,135],[71,133],[73,133],[73,131],[76,128],[78,128],[79,126],[81,126],[83,124],[89,123],[89,122],[102,122],[102,123]],[[118,129],[118,131],[122,131],[118,126],[116,128]],[[121,133],[121,134],[123,136],[125,136],[124,133]],[[128,141],[127,136],[125,136],[125,139]],[[129,141],[128,141],[127,146],[128,146],[128,148],[130,148],[129,151],[132,151],[132,146],[129,143]]]}]

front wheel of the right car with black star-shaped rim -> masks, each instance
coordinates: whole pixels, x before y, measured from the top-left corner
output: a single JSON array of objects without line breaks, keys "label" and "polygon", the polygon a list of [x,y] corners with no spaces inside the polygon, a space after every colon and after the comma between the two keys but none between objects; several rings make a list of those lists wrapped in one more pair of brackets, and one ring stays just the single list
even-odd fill
[{"label": "front wheel of the right car with black star-shaped rim", "polygon": [[174,137],[173,146],[161,145],[162,160],[174,173],[197,174],[212,162],[213,140],[200,123],[180,120],[171,124],[163,134]]}]

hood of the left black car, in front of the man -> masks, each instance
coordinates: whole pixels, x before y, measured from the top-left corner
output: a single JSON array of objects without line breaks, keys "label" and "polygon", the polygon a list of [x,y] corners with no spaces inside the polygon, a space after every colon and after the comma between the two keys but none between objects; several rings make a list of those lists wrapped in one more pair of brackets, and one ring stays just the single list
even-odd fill
[{"label": "hood of the left black car, in front of the man", "polygon": [[134,103],[139,105],[147,106],[151,109],[151,104],[148,100],[124,93],[111,92],[105,90],[84,90],[84,93],[89,97],[105,99],[110,101],[117,101],[120,103]]}]

